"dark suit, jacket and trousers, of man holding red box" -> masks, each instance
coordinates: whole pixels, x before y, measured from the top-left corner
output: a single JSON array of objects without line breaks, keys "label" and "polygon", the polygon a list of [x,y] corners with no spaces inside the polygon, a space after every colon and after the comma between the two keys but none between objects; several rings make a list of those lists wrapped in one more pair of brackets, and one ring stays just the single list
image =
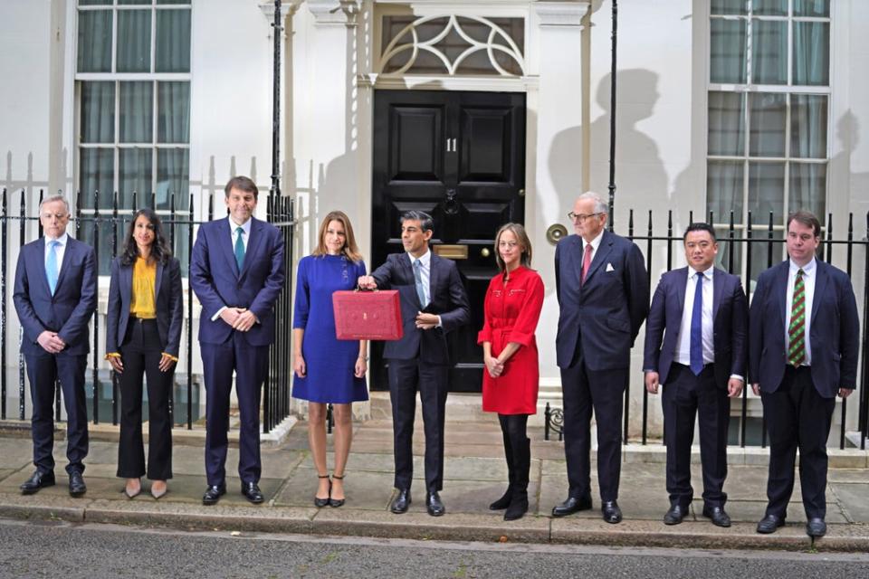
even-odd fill
[{"label": "dark suit, jacket and trousers, of man holding red box", "polygon": [[[425,427],[425,487],[429,492],[435,492],[444,484],[444,411],[450,368],[446,336],[470,321],[471,309],[453,261],[432,252],[429,271],[430,299],[425,308],[416,292],[408,253],[388,255],[387,261],[371,275],[379,289],[397,289],[401,302],[404,336],[388,341],[383,353],[389,365],[395,486],[396,489],[410,489],[413,479],[412,443],[418,384]],[[428,330],[416,327],[416,313],[419,311],[440,316],[441,327]]]}]

